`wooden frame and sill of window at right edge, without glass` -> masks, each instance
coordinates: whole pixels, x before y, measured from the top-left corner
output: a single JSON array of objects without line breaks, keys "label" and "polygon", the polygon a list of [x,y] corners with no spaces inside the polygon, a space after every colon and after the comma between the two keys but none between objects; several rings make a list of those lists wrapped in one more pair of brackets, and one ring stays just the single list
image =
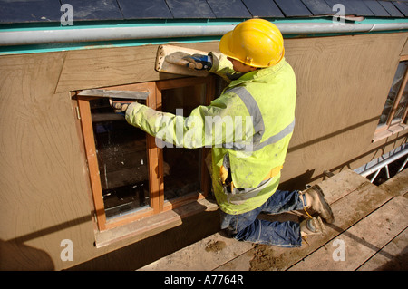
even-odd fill
[{"label": "wooden frame and sill of window at right edge, without glass", "polygon": [[[403,61],[408,61],[408,55],[400,57],[399,63]],[[388,115],[386,122],[382,125],[378,125],[377,129],[374,132],[373,142],[383,140],[384,138],[388,138],[389,136],[395,133],[408,129],[408,125],[404,123],[408,113],[408,105],[405,106],[405,111],[403,112],[403,117],[401,118],[401,120],[393,120],[395,112],[397,111],[398,108],[398,104],[400,103],[403,97],[403,91],[405,90],[407,82],[408,82],[408,69],[404,72],[403,82],[401,83],[401,87],[397,93],[397,96],[395,97],[395,100],[393,101],[393,107],[391,108],[391,111]]]}]

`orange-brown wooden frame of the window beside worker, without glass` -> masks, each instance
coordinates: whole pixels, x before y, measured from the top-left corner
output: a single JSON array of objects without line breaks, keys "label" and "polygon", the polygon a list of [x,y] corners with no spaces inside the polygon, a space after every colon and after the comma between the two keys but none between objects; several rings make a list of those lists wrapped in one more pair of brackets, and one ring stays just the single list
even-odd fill
[{"label": "orange-brown wooden frame of the window beside worker, without glass", "polygon": [[[165,80],[157,82],[141,82],[127,84],[121,86],[104,87],[104,90],[116,91],[137,91],[149,92],[146,105],[161,111],[161,92],[168,89],[182,88],[206,84],[206,105],[212,100],[215,93],[215,79],[213,76],[206,78],[192,77],[180,78],[175,80]],[[102,184],[99,176],[99,165],[96,155],[94,142],[94,134],[92,128],[92,115],[90,102],[95,97],[83,97],[78,95],[79,92],[73,93],[73,99],[76,100],[78,119],[81,123],[82,139],[84,153],[87,160],[89,170],[90,188],[92,195],[92,203],[94,208],[94,217],[97,228],[100,232],[112,229],[118,226],[123,226],[143,217],[151,217],[162,212],[170,211],[178,207],[189,205],[192,202],[204,199],[209,194],[209,172],[205,164],[205,157],[209,151],[208,148],[202,148],[201,159],[201,188],[197,192],[191,192],[185,196],[177,197],[170,200],[164,199],[164,177],[163,177],[163,149],[156,146],[155,138],[146,134],[146,147],[148,156],[148,176],[149,176],[149,191],[150,191],[150,206],[142,207],[126,216],[114,217],[107,220],[105,216],[104,203],[102,198]],[[75,103],[75,101],[74,101]],[[156,169],[157,168],[157,169]],[[191,213],[189,212],[189,215]]]}]

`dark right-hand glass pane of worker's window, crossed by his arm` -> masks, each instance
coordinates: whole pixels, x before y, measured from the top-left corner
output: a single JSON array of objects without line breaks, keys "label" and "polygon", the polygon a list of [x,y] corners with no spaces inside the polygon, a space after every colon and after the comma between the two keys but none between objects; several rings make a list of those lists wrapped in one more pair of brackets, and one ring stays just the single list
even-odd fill
[{"label": "dark right-hand glass pane of worker's window, crossed by his arm", "polygon": [[[162,111],[189,116],[205,103],[206,85],[165,90],[161,93]],[[200,190],[202,149],[163,149],[164,198],[181,197]]]}]

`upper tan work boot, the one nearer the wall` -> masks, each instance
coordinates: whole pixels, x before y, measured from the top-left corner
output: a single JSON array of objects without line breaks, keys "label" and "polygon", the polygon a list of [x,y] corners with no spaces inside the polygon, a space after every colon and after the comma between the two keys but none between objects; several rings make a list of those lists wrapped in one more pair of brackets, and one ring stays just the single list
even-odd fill
[{"label": "upper tan work boot, the one nearer the wall", "polygon": [[303,203],[306,213],[309,209],[313,210],[320,217],[322,217],[326,223],[331,224],[335,221],[335,216],[333,215],[332,208],[325,201],[324,196],[325,194],[323,193],[322,189],[319,186],[315,185],[311,188],[307,188],[303,192],[300,192],[299,197],[302,202],[304,202],[304,197],[306,197],[306,205],[305,202]]}]

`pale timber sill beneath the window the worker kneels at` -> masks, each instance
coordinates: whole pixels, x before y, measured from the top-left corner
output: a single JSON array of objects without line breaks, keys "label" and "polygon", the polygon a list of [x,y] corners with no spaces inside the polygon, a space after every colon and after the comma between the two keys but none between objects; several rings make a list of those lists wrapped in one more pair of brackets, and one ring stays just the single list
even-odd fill
[{"label": "pale timber sill beneath the window the worker kneels at", "polygon": [[144,217],[123,226],[97,232],[95,234],[95,246],[100,248],[112,243],[130,239],[131,243],[138,242],[144,238],[159,234],[182,224],[182,219],[205,211],[215,211],[218,205],[209,202],[208,199],[200,199],[188,205],[175,209]]}]

